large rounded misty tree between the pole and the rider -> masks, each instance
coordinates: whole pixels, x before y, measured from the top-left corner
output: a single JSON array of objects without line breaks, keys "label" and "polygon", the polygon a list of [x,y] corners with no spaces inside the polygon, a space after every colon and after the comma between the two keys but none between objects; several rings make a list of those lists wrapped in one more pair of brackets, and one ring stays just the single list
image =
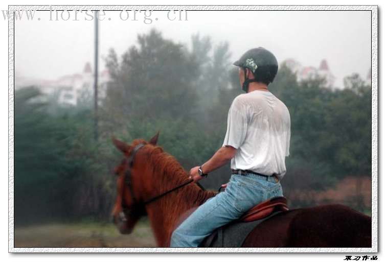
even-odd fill
[{"label": "large rounded misty tree between the pole and the rider", "polygon": [[151,30],[139,35],[138,46],[131,46],[117,61],[110,51],[106,65],[112,81],[104,102],[105,111],[115,112],[116,120],[191,116],[198,66],[183,45]]}]

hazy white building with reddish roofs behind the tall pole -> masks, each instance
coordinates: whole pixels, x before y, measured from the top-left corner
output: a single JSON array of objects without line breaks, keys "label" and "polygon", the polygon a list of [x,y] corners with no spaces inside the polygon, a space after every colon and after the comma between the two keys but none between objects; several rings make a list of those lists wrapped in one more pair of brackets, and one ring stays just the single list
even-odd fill
[{"label": "hazy white building with reddish roofs behind the tall pole", "polygon": [[[98,98],[106,95],[107,83],[110,80],[108,70],[105,69],[98,75]],[[65,75],[57,80],[29,79],[15,76],[15,89],[36,86],[48,95],[56,95],[61,105],[89,104],[94,100],[94,74],[89,62],[84,66],[82,73]]]}]

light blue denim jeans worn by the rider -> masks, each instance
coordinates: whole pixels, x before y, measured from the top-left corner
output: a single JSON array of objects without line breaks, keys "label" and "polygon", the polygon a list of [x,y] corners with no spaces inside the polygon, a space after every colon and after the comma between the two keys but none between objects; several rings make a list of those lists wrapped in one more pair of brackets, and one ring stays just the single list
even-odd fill
[{"label": "light blue denim jeans worn by the rider", "polygon": [[170,247],[198,247],[216,228],[242,216],[267,199],[283,196],[275,177],[254,174],[231,176],[224,192],[200,205],[171,236]]}]

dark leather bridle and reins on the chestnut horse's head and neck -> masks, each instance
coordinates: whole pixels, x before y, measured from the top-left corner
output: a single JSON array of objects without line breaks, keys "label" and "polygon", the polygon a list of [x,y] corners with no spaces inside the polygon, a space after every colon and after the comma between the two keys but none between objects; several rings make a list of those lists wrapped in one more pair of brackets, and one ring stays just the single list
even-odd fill
[{"label": "dark leather bridle and reins on the chestnut horse's head and neck", "polygon": [[[127,163],[129,164],[129,168],[125,171],[124,183],[129,188],[129,193],[130,193],[131,200],[133,201],[133,204],[131,207],[128,207],[126,205],[126,203],[124,202],[124,196],[122,195],[122,211],[119,213],[119,217],[121,218],[122,221],[127,221],[127,216],[138,216],[138,217],[145,216],[146,215],[145,206],[147,204],[150,204],[150,203],[166,196],[167,194],[173,192],[174,190],[177,190],[181,187],[184,187],[185,185],[190,184],[191,182],[194,181],[193,179],[190,179],[190,180],[188,180],[188,181],[186,181],[186,182],[184,182],[184,183],[182,183],[182,184],[180,184],[180,185],[178,185],[170,190],[167,190],[165,193],[162,193],[161,195],[150,198],[147,201],[141,202],[141,201],[137,200],[135,198],[134,190],[133,190],[132,182],[131,182],[131,168],[134,164],[135,155],[144,146],[145,146],[144,144],[139,144],[139,145],[135,146],[134,149],[132,150],[131,155],[127,158]],[[201,189],[205,190],[205,188],[203,188],[198,182],[197,182],[197,185]]]}]

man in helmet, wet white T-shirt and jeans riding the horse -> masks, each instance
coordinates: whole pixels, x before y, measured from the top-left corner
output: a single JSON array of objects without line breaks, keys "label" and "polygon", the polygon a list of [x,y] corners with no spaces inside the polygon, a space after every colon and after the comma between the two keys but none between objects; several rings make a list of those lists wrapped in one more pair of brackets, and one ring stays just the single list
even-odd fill
[{"label": "man in helmet, wet white T-shirt and jeans riding the horse", "polygon": [[283,196],[280,180],[289,156],[290,116],[284,103],[268,90],[278,62],[271,52],[258,47],[234,65],[239,67],[246,94],[232,102],[222,147],[190,170],[190,178],[197,182],[231,160],[231,179],[224,192],[200,205],[174,230],[171,247],[198,247],[216,228],[264,200]]}]

